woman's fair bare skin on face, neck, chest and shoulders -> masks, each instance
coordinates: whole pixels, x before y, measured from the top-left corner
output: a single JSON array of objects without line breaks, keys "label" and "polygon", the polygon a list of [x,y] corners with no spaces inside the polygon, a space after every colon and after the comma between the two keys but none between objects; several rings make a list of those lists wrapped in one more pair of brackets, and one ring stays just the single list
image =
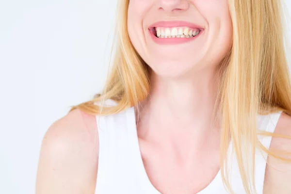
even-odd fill
[{"label": "woman's fair bare skin on face, neck, chest and shoulders", "polygon": [[[183,20],[203,30],[193,41],[158,44],[148,29],[161,20]],[[219,170],[219,126],[210,121],[217,66],[231,44],[227,0],[130,0],[128,27],[133,46],[152,69],[150,97],[141,103],[137,124],[147,175],[163,194],[197,193]],[[37,194],[95,192],[96,129],[95,117],[80,110],[49,128]],[[291,117],[283,113],[275,132],[291,136]],[[271,148],[291,151],[291,141],[273,138]],[[264,194],[291,193],[290,179],[291,164],[269,157]]]}]

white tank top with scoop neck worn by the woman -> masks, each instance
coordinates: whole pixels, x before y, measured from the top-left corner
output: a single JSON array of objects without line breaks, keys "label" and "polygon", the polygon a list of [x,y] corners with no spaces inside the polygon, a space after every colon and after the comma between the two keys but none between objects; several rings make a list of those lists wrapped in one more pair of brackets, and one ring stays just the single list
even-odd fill
[{"label": "white tank top with scoop neck worn by the woman", "polygon": [[[109,103],[114,104],[113,101]],[[258,129],[274,132],[281,113],[258,115]],[[139,148],[134,107],[96,118],[99,135],[96,194],[161,194],[146,174]],[[269,148],[272,137],[259,138],[263,146]],[[255,186],[258,194],[263,193],[266,158],[267,154],[258,150],[255,163]],[[245,194],[235,157],[231,184],[235,194]],[[221,172],[198,194],[228,194]]]}]

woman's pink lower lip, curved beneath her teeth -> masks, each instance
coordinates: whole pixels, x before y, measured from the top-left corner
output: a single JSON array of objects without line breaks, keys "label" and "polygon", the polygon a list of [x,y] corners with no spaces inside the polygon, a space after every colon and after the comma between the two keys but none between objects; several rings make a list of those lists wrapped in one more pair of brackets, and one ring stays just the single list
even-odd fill
[{"label": "woman's pink lower lip, curved beneath her teeth", "polygon": [[190,38],[158,38],[154,33],[150,32],[150,35],[153,41],[159,45],[177,45],[182,43],[187,43],[194,41],[203,31],[201,31],[198,35]]}]

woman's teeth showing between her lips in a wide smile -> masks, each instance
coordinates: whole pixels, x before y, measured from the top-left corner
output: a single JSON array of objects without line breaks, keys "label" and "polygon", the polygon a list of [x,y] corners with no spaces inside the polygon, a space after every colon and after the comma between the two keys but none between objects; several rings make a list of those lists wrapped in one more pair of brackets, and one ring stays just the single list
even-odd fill
[{"label": "woman's teeth showing between her lips in a wide smile", "polygon": [[199,34],[199,29],[191,29],[189,27],[174,27],[174,28],[164,28],[156,27],[157,36],[160,38],[184,38],[193,37]]}]

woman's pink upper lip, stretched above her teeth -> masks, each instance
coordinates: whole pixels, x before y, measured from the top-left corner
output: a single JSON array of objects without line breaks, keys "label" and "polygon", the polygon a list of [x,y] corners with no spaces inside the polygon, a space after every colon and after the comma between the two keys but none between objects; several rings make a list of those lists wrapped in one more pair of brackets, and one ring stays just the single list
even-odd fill
[{"label": "woman's pink upper lip, stretched above her teeth", "polygon": [[173,27],[179,27],[179,26],[186,26],[186,27],[190,27],[190,28],[197,28],[200,30],[203,30],[203,27],[201,27],[200,25],[191,23],[191,22],[187,22],[187,21],[158,21],[153,23],[152,25],[150,25],[148,27],[148,29],[152,29],[152,28],[156,28],[156,27],[168,27],[168,28],[173,28]]}]

